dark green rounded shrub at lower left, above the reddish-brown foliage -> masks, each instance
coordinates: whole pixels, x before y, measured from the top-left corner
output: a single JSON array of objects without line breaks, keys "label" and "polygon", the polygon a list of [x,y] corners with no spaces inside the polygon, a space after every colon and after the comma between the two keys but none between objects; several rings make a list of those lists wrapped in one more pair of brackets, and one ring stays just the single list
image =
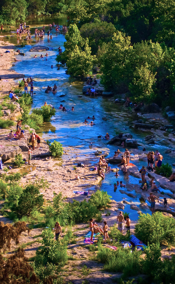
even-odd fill
[{"label": "dark green rounded shrub at lower left, above the reddish-brown foliage", "polygon": [[32,211],[41,208],[43,202],[43,195],[34,185],[30,184],[23,190],[14,210],[20,217],[30,215]]}]

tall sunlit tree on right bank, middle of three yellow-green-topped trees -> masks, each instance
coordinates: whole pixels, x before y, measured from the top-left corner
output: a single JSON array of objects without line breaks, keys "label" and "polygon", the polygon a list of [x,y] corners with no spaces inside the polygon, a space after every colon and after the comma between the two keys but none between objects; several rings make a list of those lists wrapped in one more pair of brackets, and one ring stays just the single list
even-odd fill
[{"label": "tall sunlit tree on right bank, middle of three yellow-green-topped trees", "polygon": [[[114,33],[112,41],[107,45],[102,55],[101,82],[107,90],[127,86],[130,74],[130,37],[124,36],[121,32]],[[123,89],[123,88],[122,88]]]}]

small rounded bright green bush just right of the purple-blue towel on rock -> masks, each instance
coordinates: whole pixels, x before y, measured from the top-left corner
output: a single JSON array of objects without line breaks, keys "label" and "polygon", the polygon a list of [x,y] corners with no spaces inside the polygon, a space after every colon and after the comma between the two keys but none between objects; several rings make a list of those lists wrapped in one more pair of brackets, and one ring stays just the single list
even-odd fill
[{"label": "small rounded bright green bush just right of the purple-blue towel on rock", "polygon": [[97,208],[102,207],[110,207],[108,204],[111,203],[112,196],[108,195],[106,191],[97,190],[94,194],[92,194],[89,202],[94,204]]}]

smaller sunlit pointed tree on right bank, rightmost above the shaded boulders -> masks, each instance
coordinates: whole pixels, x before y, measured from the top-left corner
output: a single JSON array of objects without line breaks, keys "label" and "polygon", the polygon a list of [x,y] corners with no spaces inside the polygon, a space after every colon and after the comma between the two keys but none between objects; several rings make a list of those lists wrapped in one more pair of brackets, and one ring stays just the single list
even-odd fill
[{"label": "smaller sunlit pointed tree on right bank, rightmost above the shaded boulders", "polygon": [[133,81],[129,84],[129,90],[136,102],[151,103],[154,98],[153,86],[156,82],[155,74],[149,70],[148,64],[136,67]]}]

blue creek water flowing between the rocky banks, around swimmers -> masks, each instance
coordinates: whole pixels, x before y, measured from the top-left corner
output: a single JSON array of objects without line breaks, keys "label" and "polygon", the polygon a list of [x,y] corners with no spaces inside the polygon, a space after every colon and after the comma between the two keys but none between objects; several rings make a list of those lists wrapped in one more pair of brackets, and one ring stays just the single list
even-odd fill
[{"label": "blue creek water flowing between the rocky banks, around swimmers", "polygon": [[[44,22],[33,22],[31,24],[30,31],[34,41],[30,45],[26,42],[25,47],[20,47],[21,52],[24,52],[26,55],[25,57],[17,55],[16,58],[22,60],[22,62],[15,62],[12,67],[12,69],[16,72],[24,74],[25,78],[31,76],[34,80],[36,80],[36,82],[34,82],[34,95],[31,109],[34,107],[41,107],[45,101],[47,104],[53,105],[56,109],[55,116],[52,117],[49,123],[45,123],[38,133],[42,135],[45,140],[48,139],[51,142],[57,140],[62,143],[63,146],[76,147],[79,150],[80,155],[82,154],[82,156],[84,156],[86,154],[92,158],[92,165],[97,165],[97,159],[93,155],[95,147],[99,149],[106,149],[107,152],[109,152],[109,157],[114,155],[116,148],[119,148],[122,152],[124,150],[121,147],[107,145],[106,140],[97,140],[98,135],[105,136],[108,132],[110,137],[113,137],[119,132],[131,133],[134,139],[143,143],[143,138],[148,134],[148,132],[141,132],[134,130],[133,128],[129,128],[130,122],[134,120],[134,116],[127,113],[127,111],[124,112],[120,105],[114,104],[115,97],[90,98],[82,95],[82,87],[84,83],[70,78],[70,76],[65,73],[66,67],[60,67],[60,70],[57,70],[57,62],[55,60],[58,53],[57,51],[47,51],[49,54],[47,61],[45,56],[43,59],[39,58],[41,54],[45,55],[46,51],[29,52],[32,45],[44,45],[53,49],[60,46],[64,51],[63,44],[65,36],[63,34],[56,34],[55,28],[51,30],[50,34],[53,36],[53,39],[51,40],[47,39],[47,30],[49,29],[47,26],[45,27],[46,34],[44,38],[34,38],[34,30],[36,27],[42,28],[43,25],[47,25],[53,21],[55,24],[58,23],[60,28],[62,28],[62,24],[67,24],[66,18],[52,20],[46,19]],[[12,29],[12,32],[15,32],[15,30],[16,29]],[[16,35],[10,37],[10,39],[8,38],[7,40],[15,45],[20,44],[20,40],[17,39]],[[18,49],[18,47],[16,47],[16,49]],[[37,58],[33,58],[35,54],[37,55]],[[51,65],[53,65],[53,69],[51,68]],[[45,93],[47,86],[49,85],[53,87],[54,84],[57,85],[56,94],[53,94],[52,92]],[[66,96],[60,97],[60,95],[64,94],[66,94]],[[82,95],[82,97],[78,98],[78,95]],[[66,112],[59,110],[59,105],[61,103],[66,107]],[[71,111],[72,106],[74,107],[74,111]],[[95,116],[95,125],[90,126],[82,123],[88,116],[92,117],[93,115]],[[102,117],[106,117],[107,120],[104,121]],[[93,143],[92,148],[89,147],[90,141]],[[141,146],[139,148],[142,149]],[[161,144],[149,146],[145,144],[145,148],[147,151],[155,151],[158,149],[159,152],[164,154],[164,151],[168,147]],[[172,159],[166,154],[164,154],[164,159],[169,163],[172,163]],[[146,162],[142,161],[132,161],[132,163],[137,165],[139,168],[141,168],[142,165],[147,165]],[[114,167],[114,165],[111,165],[111,167]],[[107,191],[108,194],[112,196],[112,199],[117,202],[121,201],[122,198],[125,198],[125,200],[139,206],[142,202],[139,194],[136,194],[136,198],[130,198],[126,194],[121,194],[119,192],[119,189],[121,189],[120,187],[118,187],[117,191],[114,192],[113,186],[116,179],[119,181],[122,180],[125,184],[139,184],[139,179],[127,174],[124,175],[122,171],[119,171],[119,175],[120,177],[116,178],[113,172],[107,173],[105,175],[105,180],[100,184],[100,188]],[[94,188],[95,186],[91,189]],[[122,189],[125,190],[124,188]],[[164,190],[164,192],[168,191]],[[130,205],[126,204],[124,212],[130,213],[131,219],[135,220],[138,218],[137,212],[135,210],[131,210]]]}]

